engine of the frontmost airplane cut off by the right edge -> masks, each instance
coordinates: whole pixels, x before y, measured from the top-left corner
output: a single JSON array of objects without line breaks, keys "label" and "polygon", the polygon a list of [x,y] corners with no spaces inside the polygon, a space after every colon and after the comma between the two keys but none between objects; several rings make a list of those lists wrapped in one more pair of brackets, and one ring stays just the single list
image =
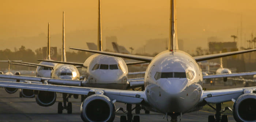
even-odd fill
[{"label": "engine of the frontmost airplane cut off by the right edge", "polygon": [[256,94],[248,93],[238,97],[233,105],[233,116],[237,122],[256,122]]}]

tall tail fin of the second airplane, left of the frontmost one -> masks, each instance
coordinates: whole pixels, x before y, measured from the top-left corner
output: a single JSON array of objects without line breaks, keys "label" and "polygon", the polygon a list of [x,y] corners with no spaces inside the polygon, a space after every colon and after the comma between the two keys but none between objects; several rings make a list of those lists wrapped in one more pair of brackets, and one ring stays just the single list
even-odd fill
[{"label": "tall tail fin of the second airplane, left of the frontmost one", "polygon": [[98,1],[98,51],[102,50],[102,40],[101,40],[101,0]]}]

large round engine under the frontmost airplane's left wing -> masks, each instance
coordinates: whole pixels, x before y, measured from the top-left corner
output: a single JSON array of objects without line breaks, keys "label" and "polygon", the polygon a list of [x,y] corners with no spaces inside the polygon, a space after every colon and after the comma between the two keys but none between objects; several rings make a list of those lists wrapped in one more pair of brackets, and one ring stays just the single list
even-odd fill
[{"label": "large round engine under the frontmost airplane's left wing", "polygon": [[115,118],[115,105],[105,95],[94,94],[81,105],[81,118],[84,122],[112,122]]}]

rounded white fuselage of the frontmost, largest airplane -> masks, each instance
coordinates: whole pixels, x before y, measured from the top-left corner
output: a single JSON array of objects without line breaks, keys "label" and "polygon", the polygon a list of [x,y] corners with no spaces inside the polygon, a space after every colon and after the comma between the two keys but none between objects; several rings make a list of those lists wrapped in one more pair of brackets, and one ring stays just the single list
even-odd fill
[{"label": "rounded white fuselage of the frontmost, largest airplane", "polygon": [[203,75],[189,54],[163,51],[147,67],[144,86],[151,110],[167,113],[193,111],[202,94]]}]

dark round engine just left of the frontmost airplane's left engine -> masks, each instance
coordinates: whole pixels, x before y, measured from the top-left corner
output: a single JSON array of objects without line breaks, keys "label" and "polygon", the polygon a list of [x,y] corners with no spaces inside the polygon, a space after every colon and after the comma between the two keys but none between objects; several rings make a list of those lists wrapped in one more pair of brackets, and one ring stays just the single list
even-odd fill
[{"label": "dark round engine just left of the frontmost airplane's left engine", "polygon": [[56,93],[50,91],[39,91],[38,95],[35,96],[35,101],[40,106],[51,106],[56,101]]}]

